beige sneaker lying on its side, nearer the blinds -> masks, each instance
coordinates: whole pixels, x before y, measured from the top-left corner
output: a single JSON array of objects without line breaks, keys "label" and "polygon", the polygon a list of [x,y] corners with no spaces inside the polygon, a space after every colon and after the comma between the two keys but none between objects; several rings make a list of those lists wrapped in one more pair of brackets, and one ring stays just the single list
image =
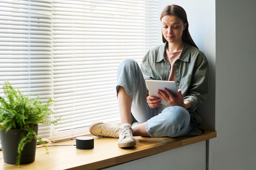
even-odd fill
[{"label": "beige sneaker lying on its side, nearer the blinds", "polygon": [[120,126],[117,124],[106,124],[103,122],[96,122],[89,127],[90,133],[94,136],[114,138],[118,138],[119,129]]}]

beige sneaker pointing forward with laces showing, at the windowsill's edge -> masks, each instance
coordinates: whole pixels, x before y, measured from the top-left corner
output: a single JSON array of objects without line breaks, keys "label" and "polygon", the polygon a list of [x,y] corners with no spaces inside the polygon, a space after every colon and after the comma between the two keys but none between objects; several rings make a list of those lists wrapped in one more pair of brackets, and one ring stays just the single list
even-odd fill
[{"label": "beige sneaker pointing forward with laces showing, at the windowsill's edge", "polygon": [[129,126],[124,126],[119,130],[118,147],[125,148],[136,145],[136,141],[132,136],[133,130]]}]

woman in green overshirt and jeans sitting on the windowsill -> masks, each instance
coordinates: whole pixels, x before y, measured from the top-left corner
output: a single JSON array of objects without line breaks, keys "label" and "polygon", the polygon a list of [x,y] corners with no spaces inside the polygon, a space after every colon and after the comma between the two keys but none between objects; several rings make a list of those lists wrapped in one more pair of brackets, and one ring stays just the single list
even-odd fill
[{"label": "woman in green overshirt and jeans sitting on the windowsill", "polygon": [[[180,137],[201,121],[198,105],[208,93],[207,59],[189,34],[184,9],[164,8],[160,16],[164,44],[148,51],[139,68],[135,60],[121,62],[117,74],[117,99],[121,125],[97,122],[92,135],[119,138],[120,148],[135,146],[133,136]],[[178,96],[168,89],[158,97],[148,95],[145,79],[177,82]],[[161,104],[163,99],[167,104]]]}]

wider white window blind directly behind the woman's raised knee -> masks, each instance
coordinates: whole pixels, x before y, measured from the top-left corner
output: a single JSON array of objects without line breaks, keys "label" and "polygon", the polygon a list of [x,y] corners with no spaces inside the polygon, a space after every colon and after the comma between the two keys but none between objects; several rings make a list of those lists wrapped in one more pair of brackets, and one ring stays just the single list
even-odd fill
[{"label": "wider white window blind directly behind the woman's raised knee", "polygon": [[158,2],[54,0],[53,86],[56,130],[118,122],[116,76],[158,44]]}]

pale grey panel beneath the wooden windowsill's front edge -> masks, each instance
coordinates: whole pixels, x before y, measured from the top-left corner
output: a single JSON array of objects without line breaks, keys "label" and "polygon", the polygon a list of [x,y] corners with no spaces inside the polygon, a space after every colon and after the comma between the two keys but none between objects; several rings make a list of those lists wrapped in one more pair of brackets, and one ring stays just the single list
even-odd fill
[{"label": "pale grey panel beneath the wooden windowsill's front edge", "polygon": [[206,144],[202,141],[106,168],[106,170],[205,170],[205,152]]}]

